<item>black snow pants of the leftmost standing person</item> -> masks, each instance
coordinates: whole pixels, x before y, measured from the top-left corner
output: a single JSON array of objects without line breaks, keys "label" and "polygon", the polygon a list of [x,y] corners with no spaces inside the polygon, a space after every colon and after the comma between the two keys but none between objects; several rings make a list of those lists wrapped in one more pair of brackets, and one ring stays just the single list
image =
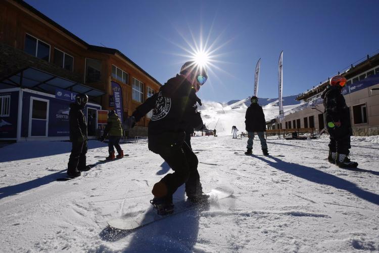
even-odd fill
[{"label": "black snow pants of the leftmost standing person", "polygon": [[67,165],[67,173],[73,173],[77,170],[85,168],[86,165],[86,156],[88,146],[87,141],[84,142],[72,142],[72,149],[70,158]]}]

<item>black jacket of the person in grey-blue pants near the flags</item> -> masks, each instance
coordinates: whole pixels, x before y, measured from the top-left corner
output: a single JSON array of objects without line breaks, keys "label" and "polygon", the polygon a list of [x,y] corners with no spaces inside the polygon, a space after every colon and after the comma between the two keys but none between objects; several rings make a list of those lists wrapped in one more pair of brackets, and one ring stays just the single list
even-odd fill
[{"label": "black jacket of the person in grey-blue pants near the flags", "polygon": [[246,131],[264,132],[266,131],[266,120],[263,109],[258,104],[251,104],[245,115]]}]

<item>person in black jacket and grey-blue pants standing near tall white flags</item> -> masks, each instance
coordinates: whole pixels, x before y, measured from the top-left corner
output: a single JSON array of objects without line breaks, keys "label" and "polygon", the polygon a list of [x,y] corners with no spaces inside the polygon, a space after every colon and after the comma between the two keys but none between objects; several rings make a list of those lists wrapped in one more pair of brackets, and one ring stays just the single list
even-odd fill
[{"label": "person in black jacket and grey-blue pants standing near tall white flags", "polygon": [[259,140],[261,141],[261,148],[264,155],[268,155],[267,143],[264,138],[264,131],[266,131],[266,120],[264,118],[264,113],[262,106],[258,104],[258,98],[256,96],[252,96],[250,98],[251,104],[249,108],[246,110],[245,115],[245,124],[246,131],[248,132],[248,145],[246,155],[251,155],[253,152],[253,141],[254,141],[254,133],[256,132]]}]

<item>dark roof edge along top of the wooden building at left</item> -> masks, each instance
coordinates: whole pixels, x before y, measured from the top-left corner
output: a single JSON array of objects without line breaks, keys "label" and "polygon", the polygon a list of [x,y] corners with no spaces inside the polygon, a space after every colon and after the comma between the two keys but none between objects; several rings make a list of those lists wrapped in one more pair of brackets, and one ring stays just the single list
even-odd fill
[{"label": "dark roof edge along top of the wooden building at left", "polygon": [[99,47],[99,46],[90,45],[90,44],[86,43],[84,40],[82,40],[81,38],[79,38],[78,36],[76,36],[75,34],[73,34],[72,32],[70,32],[69,30],[67,30],[66,28],[64,28],[63,26],[61,26],[60,24],[58,24],[57,22],[55,22],[54,20],[50,19],[48,16],[46,16],[43,13],[39,12],[37,9],[33,8],[32,6],[28,5],[24,1],[22,1],[22,0],[12,0],[12,1],[14,1],[17,4],[21,5],[25,9],[28,9],[29,11],[31,11],[32,13],[34,13],[35,15],[37,15],[38,17],[42,18],[46,22],[50,23],[51,25],[57,27],[59,30],[61,30],[62,32],[66,33],[68,36],[70,36],[70,37],[74,38],[75,40],[79,41],[79,43],[81,43],[84,46],[86,46],[88,48],[88,50],[96,51],[96,52],[100,52],[100,53],[105,53],[105,54],[111,54],[111,55],[114,55],[116,53],[119,54],[126,61],[130,62],[131,65],[133,65],[138,70],[140,70],[141,72],[143,72],[144,74],[146,74],[147,76],[149,76],[153,81],[157,82],[158,85],[162,86],[162,84],[157,79],[155,79],[153,76],[151,76],[143,68],[139,67],[135,62],[133,62],[132,60],[130,60],[128,57],[126,57],[119,50],[112,49],[112,48],[106,48],[106,47]]}]

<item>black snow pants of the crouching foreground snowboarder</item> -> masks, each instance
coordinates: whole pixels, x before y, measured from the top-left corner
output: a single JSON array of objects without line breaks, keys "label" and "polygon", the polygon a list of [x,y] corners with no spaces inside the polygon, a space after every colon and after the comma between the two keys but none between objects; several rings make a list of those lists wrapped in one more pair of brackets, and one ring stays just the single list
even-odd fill
[{"label": "black snow pants of the crouching foreground snowboarder", "polygon": [[198,157],[184,142],[184,138],[184,132],[149,135],[149,149],[159,154],[174,171],[161,179],[167,186],[168,198],[184,183],[187,196],[196,196],[203,192]]}]

